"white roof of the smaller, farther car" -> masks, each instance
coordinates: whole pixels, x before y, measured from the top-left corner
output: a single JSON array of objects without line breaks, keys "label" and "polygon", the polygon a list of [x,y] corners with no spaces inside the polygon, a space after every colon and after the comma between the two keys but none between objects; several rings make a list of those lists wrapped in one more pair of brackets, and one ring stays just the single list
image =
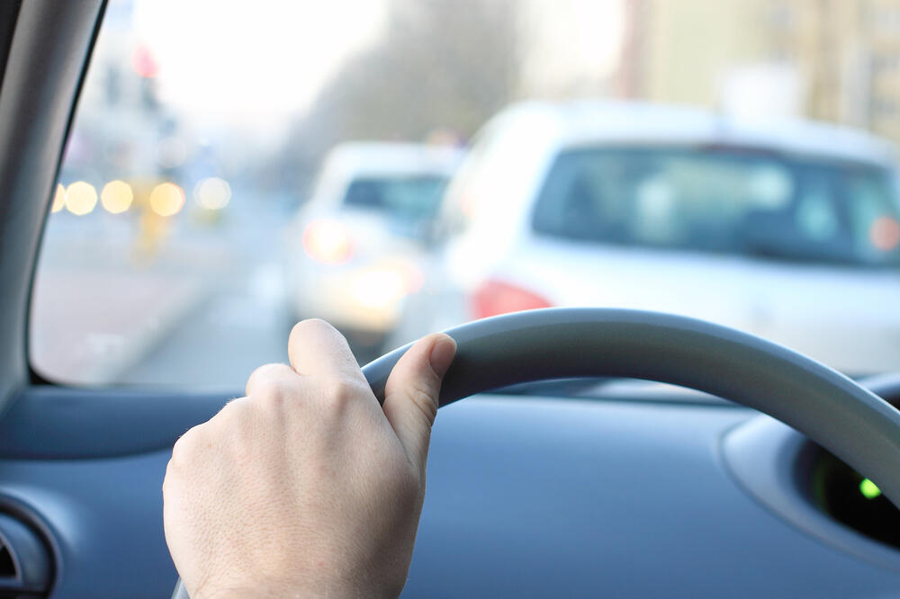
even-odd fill
[{"label": "white roof of the smaller, farther car", "polygon": [[463,151],[446,145],[352,141],[338,144],[326,157],[323,171],[350,178],[365,174],[453,174]]}]

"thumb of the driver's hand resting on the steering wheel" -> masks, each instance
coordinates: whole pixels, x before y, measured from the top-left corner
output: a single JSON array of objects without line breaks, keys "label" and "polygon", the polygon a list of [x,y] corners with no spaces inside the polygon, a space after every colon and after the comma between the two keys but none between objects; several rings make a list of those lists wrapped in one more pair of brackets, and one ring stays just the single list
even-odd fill
[{"label": "thumb of the driver's hand resting on the steering wheel", "polygon": [[410,462],[425,469],[441,380],[456,354],[456,342],[436,333],[422,337],[394,365],[384,387],[384,416]]}]

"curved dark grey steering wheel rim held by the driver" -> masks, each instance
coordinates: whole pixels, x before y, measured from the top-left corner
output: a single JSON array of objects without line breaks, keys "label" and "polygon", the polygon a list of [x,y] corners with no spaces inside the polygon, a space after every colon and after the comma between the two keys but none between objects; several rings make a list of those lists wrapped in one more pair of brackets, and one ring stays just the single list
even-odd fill
[{"label": "curved dark grey steering wheel rim held by the driver", "polygon": [[[819,362],[726,326],[657,312],[547,308],[446,331],[457,344],[439,405],[534,380],[627,377],[706,391],[778,418],[900,507],[900,412]],[[363,368],[379,402],[406,345]],[[181,581],[173,598],[183,599]]]}]

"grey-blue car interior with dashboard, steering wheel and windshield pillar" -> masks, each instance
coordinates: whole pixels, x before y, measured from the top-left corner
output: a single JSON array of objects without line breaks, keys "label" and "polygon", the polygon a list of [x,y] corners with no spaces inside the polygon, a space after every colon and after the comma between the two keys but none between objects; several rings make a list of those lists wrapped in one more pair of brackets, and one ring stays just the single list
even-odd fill
[{"label": "grey-blue car interior with dashboard, steering wheel and windshield pillar", "polygon": [[[29,360],[41,237],[106,9],[0,2],[0,597],[171,596],[166,463],[234,397],[67,386]],[[570,210],[603,201],[591,183],[572,183]],[[900,594],[900,374],[851,380],[627,309],[450,333],[404,596]],[[402,351],[365,366],[376,397]]]}]

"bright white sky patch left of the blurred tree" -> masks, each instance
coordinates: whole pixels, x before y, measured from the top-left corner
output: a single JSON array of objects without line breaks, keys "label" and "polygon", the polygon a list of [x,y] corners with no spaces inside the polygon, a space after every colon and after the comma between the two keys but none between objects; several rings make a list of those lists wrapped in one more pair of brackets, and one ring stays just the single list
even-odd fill
[{"label": "bright white sky patch left of the blurred tree", "polygon": [[159,63],[163,102],[194,120],[267,128],[307,108],[336,67],[377,38],[383,8],[382,0],[136,0],[132,25]]}]

